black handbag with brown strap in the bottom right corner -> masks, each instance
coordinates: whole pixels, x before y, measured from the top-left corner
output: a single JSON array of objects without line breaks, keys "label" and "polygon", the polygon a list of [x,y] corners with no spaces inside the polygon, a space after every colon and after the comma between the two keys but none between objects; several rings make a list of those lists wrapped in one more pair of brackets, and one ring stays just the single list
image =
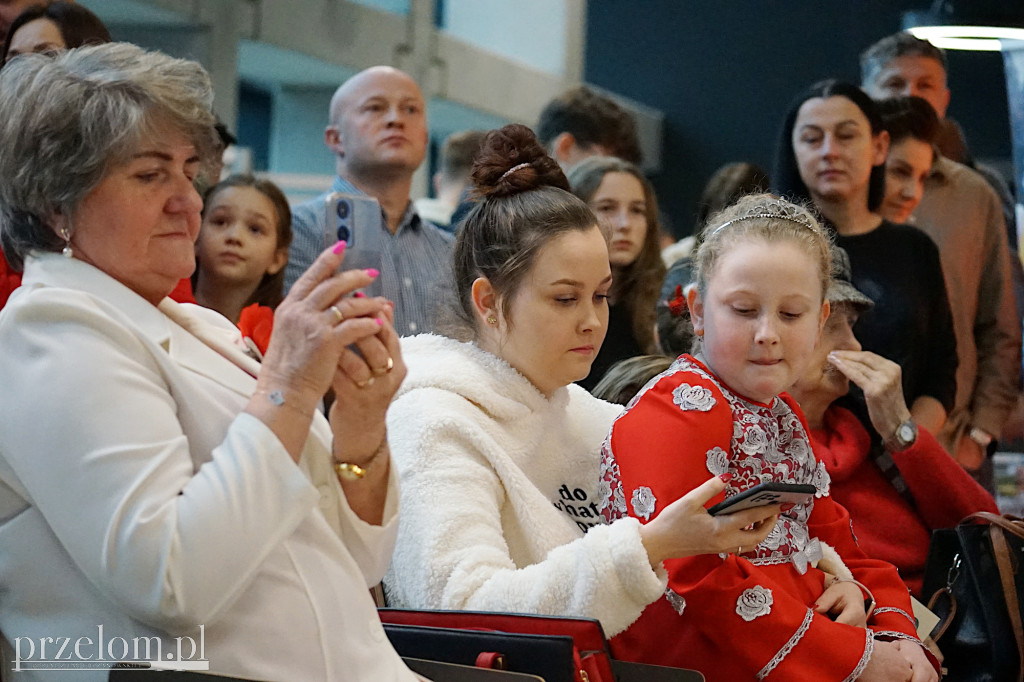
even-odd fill
[{"label": "black handbag with brown strap in the bottom right corner", "polygon": [[954,682],[1024,682],[1024,519],[978,512],[932,532],[922,594]]}]

